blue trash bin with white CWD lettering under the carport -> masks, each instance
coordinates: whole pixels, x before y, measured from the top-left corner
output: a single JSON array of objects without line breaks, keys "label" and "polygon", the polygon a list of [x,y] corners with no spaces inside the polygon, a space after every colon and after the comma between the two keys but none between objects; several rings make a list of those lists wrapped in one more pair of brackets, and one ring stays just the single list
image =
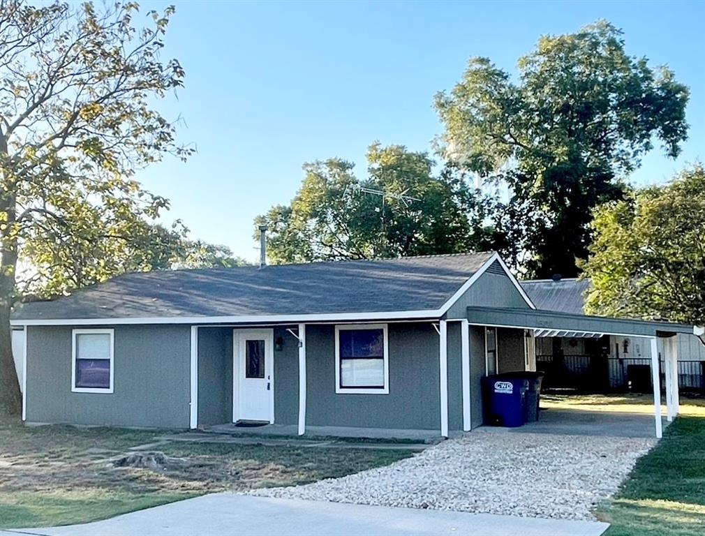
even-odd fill
[{"label": "blue trash bin with white CWD lettering under the carport", "polygon": [[509,375],[482,378],[485,422],[515,428],[526,422],[526,394],[529,380]]}]

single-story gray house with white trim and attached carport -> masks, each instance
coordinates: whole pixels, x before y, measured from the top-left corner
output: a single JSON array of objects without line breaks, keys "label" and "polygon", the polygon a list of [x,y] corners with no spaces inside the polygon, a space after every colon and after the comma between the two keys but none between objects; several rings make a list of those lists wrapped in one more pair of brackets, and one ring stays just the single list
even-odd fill
[{"label": "single-story gray house with white trim and attached carport", "polygon": [[27,423],[443,437],[482,425],[484,375],[535,370],[534,329],[654,345],[699,329],[539,311],[493,252],[125,274],[11,323],[25,330]]}]

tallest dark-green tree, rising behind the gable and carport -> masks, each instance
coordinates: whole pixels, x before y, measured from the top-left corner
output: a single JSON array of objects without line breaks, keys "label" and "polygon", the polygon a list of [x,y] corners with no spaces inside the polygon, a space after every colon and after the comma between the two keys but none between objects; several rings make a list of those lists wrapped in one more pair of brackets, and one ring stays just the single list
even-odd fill
[{"label": "tallest dark-green tree, rising behind the gable and carport", "polygon": [[591,209],[623,196],[654,140],[679,154],[688,90],[668,68],[627,55],[622,32],[605,21],[541,37],[518,69],[513,78],[474,58],[436,96],[443,149],[486,181],[508,183],[527,275],[575,276]]}]

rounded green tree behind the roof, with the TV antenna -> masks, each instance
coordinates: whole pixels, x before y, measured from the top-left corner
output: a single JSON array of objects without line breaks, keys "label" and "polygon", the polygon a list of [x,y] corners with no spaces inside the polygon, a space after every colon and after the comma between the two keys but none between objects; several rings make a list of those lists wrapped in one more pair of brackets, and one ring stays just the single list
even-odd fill
[{"label": "rounded green tree behind the roof, with the TV antenna", "polygon": [[495,240],[484,200],[454,166],[436,176],[426,153],[379,143],[367,163],[364,179],[341,159],[305,164],[290,205],[255,222],[269,226],[272,262],[463,252]]}]

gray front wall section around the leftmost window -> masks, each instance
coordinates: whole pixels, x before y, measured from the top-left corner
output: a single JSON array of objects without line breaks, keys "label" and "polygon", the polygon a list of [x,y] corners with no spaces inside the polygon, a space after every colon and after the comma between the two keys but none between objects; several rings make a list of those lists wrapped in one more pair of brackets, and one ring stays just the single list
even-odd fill
[{"label": "gray front wall section around the leftmost window", "polygon": [[27,328],[27,422],[188,428],[190,328],[114,330],[114,393],[102,394],[71,391],[71,327]]}]

